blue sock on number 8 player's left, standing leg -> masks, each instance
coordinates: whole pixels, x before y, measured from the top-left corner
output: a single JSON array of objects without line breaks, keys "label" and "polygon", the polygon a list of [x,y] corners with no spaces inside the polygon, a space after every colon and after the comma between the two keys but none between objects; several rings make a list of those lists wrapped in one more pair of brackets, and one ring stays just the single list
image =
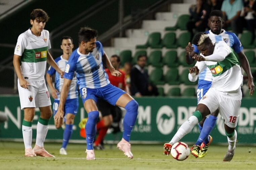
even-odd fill
[{"label": "blue sock on number 8 player's left, standing leg", "polygon": [[93,141],[96,134],[96,122],[98,118],[98,111],[91,111],[88,113],[88,119],[85,124],[87,150],[93,150]]}]

